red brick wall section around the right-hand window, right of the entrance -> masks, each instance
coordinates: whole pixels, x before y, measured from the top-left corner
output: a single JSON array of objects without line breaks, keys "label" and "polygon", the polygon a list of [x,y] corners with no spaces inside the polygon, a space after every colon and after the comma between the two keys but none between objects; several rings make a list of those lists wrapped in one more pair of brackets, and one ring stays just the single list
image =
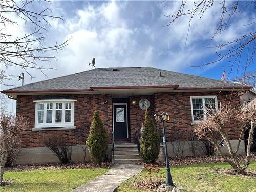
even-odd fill
[{"label": "red brick wall section around the right-hand window, right of the entrance", "polygon": [[[166,123],[167,141],[186,141],[191,140],[191,129],[193,125],[190,96],[218,95],[218,103],[230,102],[233,106],[239,104],[239,97],[231,95],[230,92],[178,92],[178,93],[155,93],[155,111],[162,113],[168,112],[171,115],[170,121]],[[231,99],[230,99],[231,98]],[[162,130],[162,124],[157,125]],[[232,121],[226,128],[230,139],[238,139],[240,131],[238,122]]]}]

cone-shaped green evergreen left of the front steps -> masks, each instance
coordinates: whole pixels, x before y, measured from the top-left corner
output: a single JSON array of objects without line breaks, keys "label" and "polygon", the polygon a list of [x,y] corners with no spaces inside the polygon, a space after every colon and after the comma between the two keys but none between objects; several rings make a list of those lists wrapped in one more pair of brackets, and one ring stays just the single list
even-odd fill
[{"label": "cone-shaped green evergreen left of the front steps", "polygon": [[90,127],[89,136],[86,141],[89,153],[98,164],[101,164],[105,159],[106,150],[108,150],[109,138],[101,121],[98,111],[93,114],[93,122]]}]

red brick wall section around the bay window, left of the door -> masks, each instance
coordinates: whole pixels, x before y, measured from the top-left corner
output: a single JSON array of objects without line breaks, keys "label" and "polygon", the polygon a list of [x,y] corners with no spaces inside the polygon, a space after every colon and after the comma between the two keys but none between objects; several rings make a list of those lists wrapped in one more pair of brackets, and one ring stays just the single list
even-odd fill
[{"label": "red brick wall section around the bay window, left of the door", "polygon": [[[35,103],[33,100],[48,97],[68,97],[77,99],[75,102],[75,130],[50,130],[32,131],[35,120]],[[103,104],[104,101],[108,103]],[[29,127],[20,133],[24,147],[41,147],[41,138],[47,134],[59,134],[65,137],[69,145],[79,145],[84,143],[84,139],[79,137],[81,130],[88,131],[91,126],[93,113],[98,110],[101,120],[109,133],[111,140],[112,131],[112,99],[110,94],[77,94],[77,95],[33,95],[17,97],[17,115],[24,115],[29,120]]]}]

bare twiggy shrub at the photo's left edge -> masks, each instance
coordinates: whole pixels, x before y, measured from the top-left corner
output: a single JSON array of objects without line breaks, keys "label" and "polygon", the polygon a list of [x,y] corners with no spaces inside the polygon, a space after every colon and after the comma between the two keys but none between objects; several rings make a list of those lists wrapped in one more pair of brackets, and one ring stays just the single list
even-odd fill
[{"label": "bare twiggy shrub at the photo's left edge", "polygon": [[15,154],[20,147],[18,133],[28,125],[22,116],[0,114],[0,185],[3,183],[5,164],[10,153]]}]

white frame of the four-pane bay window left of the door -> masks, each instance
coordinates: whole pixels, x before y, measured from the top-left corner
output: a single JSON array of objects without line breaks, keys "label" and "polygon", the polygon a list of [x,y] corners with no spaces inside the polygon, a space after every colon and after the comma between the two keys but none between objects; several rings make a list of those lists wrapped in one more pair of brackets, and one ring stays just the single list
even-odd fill
[{"label": "white frame of the four-pane bay window left of the door", "polygon": [[[46,100],[35,100],[35,128],[54,128],[54,127],[74,127],[75,117],[75,101],[76,99],[46,99]],[[46,104],[52,103],[52,123],[46,123]],[[62,103],[62,116],[60,123],[55,123],[56,115],[56,103]],[[65,103],[71,103],[71,122],[65,122]],[[44,104],[44,122],[38,123],[38,105]],[[57,109],[58,110],[58,109]]]}]

